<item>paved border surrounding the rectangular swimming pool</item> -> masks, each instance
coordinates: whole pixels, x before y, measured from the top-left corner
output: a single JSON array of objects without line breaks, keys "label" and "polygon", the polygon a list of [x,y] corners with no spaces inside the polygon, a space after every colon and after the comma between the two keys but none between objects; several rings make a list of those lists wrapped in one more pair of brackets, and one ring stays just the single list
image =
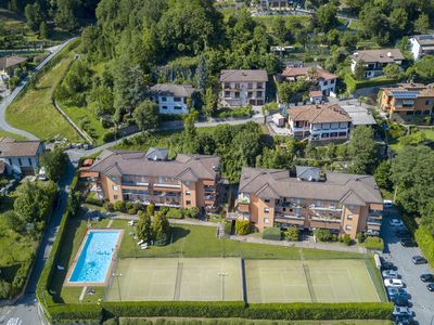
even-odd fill
[{"label": "paved border surrounding the rectangular swimming pool", "polygon": [[[87,239],[89,237],[89,233],[91,233],[91,232],[93,232],[93,233],[95,233],[95,232],[114,232],[114,231],[119,232],[119,236],[117,237],[117,242],[116,242],[116,245],[114,247],[115,249],[114,249],[113,256],[112,256],[112,261],[110,262],[110,265],[107,268],[107,274],[105,275],[104,281],[103,282],[69,282],[69,278],[72,276],[74,270],[75,270],[77,261],[78,261],[78,259],[79,259],[79,257],[81,255],[81,250],[85,247],[86,242],[87,242]],[[117,250],[119,249],[123,236],[124,236],[124,229],[118,229],[118,227],[111,227],[111,229],[107,229],[107,227],[94,227],[94,229],[92,229],[92,227],[90,227],[90,229],[88,229],[87,232],[86,232],[85,237],[81,240],[80,247],[78,248],[78,250],[77,250],[77,252],[76,252],[76,255],[74,257],[73,263],[71,264],[69,270],[66,273],[65,282],[64,282],[63,285],[67,286],[67,287],[85,287],[85,286],[103,287],[103,286],[105,286],[105,284],[107,283],[107,281],[110,278],[110,275],[112,274],[112,270],[113,270],[113,266],[115,264],[116,257],[117,257]]]}]

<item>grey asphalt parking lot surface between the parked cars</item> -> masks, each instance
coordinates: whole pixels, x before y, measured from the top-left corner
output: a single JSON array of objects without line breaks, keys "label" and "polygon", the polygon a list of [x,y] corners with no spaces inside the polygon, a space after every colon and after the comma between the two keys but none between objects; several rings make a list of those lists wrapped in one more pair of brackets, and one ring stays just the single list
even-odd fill
[{"label": "grey asphalt parking lot surface between the parked cars", "polygon": [[427,264],[414,265],[411,258],[422,255],[418,247],[403,247],[399,237],[395,232],[403,226],[392,226],[390,220],[392,218],[400,218],[399,212],[395,209],[386,209],[385,218],[383,218],[382,237],[384,239],[384,253],[382,257],[393,262],[398,269],[406,289],[411,296],[411,310],[414,313],[414,321],[420,325],[434,325],[434,292],[426,289],[426,283],[420,280],[420,275],[424,273],[433,273]]}]

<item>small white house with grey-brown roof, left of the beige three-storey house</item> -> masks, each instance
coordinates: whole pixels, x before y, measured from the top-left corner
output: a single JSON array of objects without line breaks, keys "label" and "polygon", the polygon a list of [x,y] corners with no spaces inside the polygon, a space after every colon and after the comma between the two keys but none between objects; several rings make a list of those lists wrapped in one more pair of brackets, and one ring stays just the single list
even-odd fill
[{"label": "small white house with grey-brown roof, left of the beige three-storey house", "polygon": [[157,83],[151,87],[151,99],[158,104],[159,114],[189,114],[194,92],[191,84]]}]

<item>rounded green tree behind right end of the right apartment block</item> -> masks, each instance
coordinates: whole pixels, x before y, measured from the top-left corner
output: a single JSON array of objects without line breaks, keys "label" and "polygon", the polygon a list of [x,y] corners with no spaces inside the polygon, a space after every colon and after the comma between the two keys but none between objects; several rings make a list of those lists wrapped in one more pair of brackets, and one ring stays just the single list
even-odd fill
[{"label": "rounded green tree behind right end of the right apartment block", "polygon": [[359,126],[353,131],[348,143],[348,155],[352,158],[350,172],[373,172],[378,161],[378,145],[372,128]]}]

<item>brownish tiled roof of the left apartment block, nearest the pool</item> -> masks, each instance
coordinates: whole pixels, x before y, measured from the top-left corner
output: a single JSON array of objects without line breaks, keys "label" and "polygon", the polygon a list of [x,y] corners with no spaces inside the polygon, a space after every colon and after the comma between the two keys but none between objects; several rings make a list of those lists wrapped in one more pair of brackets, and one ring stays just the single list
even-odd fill
[{"label": "brownish tiled roof of the left apartment block, nearest the pool", "polygon": [[104,151],[89,171],[106,176],[171,177],[179,180],[196,181],[217,176],[220,158],[205,155],[179,154],[175,160],[150,160],[142,152]]}]

